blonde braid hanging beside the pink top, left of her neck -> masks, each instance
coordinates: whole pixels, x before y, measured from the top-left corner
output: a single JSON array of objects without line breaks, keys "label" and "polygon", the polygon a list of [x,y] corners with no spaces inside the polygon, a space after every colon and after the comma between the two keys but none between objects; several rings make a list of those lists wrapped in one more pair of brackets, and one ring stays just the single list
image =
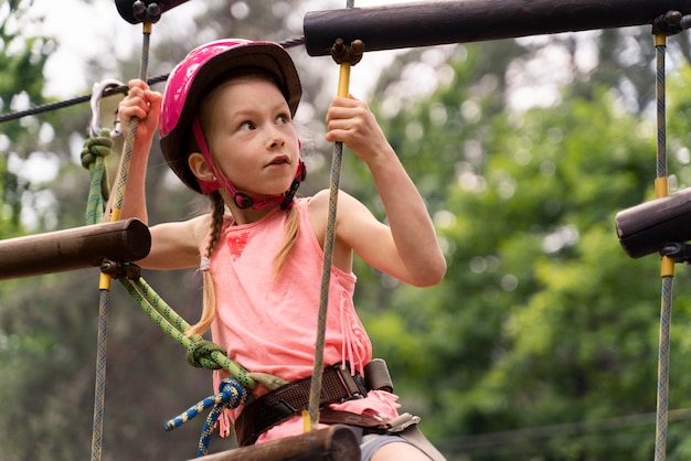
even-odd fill
[{"label": "blonde braid hanging beside the pink top, left of her neck", "polygon": [[[223,221],[225,216],[225,202],[223,202],[223,197],[217,191],[211,192],[209,194],[209,199],[211,199],[211,232],[209,237],[209,244],[206,245],[206,249],[204,250],[204,258],[206,260],[211,260],[211,255],[215,249],[219,240],[221,239],[221,230],[223,230]],[[204,334],[206,330],[211,326],[211,322],[216,317],[216,290],[213,285],[213,277],[211,276],[211,270],[205,268],[202,270],[202,281],[203,281],[203,301],[202,301],[202,317],[190,330],[188,330],[187,335],[191,336],[194,334]]]}]

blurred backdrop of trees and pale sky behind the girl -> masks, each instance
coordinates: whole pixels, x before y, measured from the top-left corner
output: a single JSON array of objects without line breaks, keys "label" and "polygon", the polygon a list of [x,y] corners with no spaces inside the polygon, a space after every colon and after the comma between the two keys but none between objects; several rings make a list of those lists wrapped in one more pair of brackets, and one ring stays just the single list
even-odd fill
[{"label": "blurred backdrop of trees and pale sky behind the girl", "polygon": [[[140,26],[113,2],[50,3],[0,2],[0,114],[139,75]],[[357,6],[382,3],[396,2]],[[191,1],[155,24],[149,74],[167,74],[210,40],[300,36],[306,12],[343,7]],[[691,185],[688,34],[670,37],[667,51],[673,192]],[[301,46],[289,52],[305,92],[297,120],[311,140],[308,195],[328,186],[322,120],[338,67]],[[640,26],[365,53],[353,68],[351,93],[375,111],[425,197],[448,262],[440,285],[415,289],[357,261],[355,305],[404,408],[449,460],[652,458],[659,258],[629,258],[614,216],[655,196],[655,61],[650,26]],[[0,238],[85,224],[79,154],[89,118],[81,104],[0,125]],[[203,211],[155,149],[150,222]],[[111,157],[115,174],[119,152]],[[384,218],[366,168],[348,152],[341,186]],[[193,271],[145,278],[198,319]],[[97,279],[87,269],[0,283],[0,460],[88,457]],[[679,266],[669,460],[691,458],[690,293]],[[193,458],[203,417],[173,432],[163,422],[212,392],[211,373],[189,366],[114,285],[103,459]],[[212,452],[233,447],[211,442]]]}]

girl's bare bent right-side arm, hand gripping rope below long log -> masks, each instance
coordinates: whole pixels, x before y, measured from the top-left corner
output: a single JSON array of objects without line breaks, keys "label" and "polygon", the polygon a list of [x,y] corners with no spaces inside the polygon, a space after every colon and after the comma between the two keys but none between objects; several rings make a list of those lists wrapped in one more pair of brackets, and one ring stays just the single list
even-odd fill
[{"label": "girl's bare bent right-side arm, hand gripping rope below long log", "polygon": [[[446,272],[432,219],[369,107],[336,98],[327,115],[327,140],[348,146],[372,173],[389,226],[348,194],[339,196],[338,239],[373,267],[415,286],[438,283]],[[341,200],[341,197],[343,200]]]}]

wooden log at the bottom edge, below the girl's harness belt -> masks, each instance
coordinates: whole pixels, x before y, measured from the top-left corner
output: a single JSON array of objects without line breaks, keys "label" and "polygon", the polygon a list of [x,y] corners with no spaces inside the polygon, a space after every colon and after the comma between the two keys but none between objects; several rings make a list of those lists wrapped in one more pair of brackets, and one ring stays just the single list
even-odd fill
[{"label": "wooden log at the bottom edge, below the girl's harness belt", "polygon": [[352,461],[359,459],[358,439],[347,426],[342,425],[196,458],[201,461]]}]

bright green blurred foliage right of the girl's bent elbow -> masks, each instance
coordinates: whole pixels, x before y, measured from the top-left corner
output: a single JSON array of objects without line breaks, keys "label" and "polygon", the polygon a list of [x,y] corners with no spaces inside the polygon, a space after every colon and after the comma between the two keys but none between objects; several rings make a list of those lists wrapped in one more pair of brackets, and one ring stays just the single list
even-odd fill
[{"label": "bright green blurred foliage right of the girl's bent elbow", "polygon": [[[483,46],[451,61],[453,85],[385,122],[406,169],[429,187],[449,270],[433,289],[397,287],[389,297],[365,289],[359,302],[371,312],[376,353],[403,404],[427,417],[423,428],[449,454],[649,459],[659,262],[626,256],[614,215],[651,199],[653,121],[597,85],[587,99],[566,94],[555,107],[500,111],[496,92],[468,89]],[[679,150],[691,128],[688,77],[683,69],[670,83]],[[428,117],[435,110],[444,124]],[[421,125],[418,139],[411,124]],[[677,158],[670,170],[688,182]],[[682,293],[674,302],[671,408],[691,404],[688,301]],[[682,431],[670,424],[668,452],[678,459],[688,446]]]}]

